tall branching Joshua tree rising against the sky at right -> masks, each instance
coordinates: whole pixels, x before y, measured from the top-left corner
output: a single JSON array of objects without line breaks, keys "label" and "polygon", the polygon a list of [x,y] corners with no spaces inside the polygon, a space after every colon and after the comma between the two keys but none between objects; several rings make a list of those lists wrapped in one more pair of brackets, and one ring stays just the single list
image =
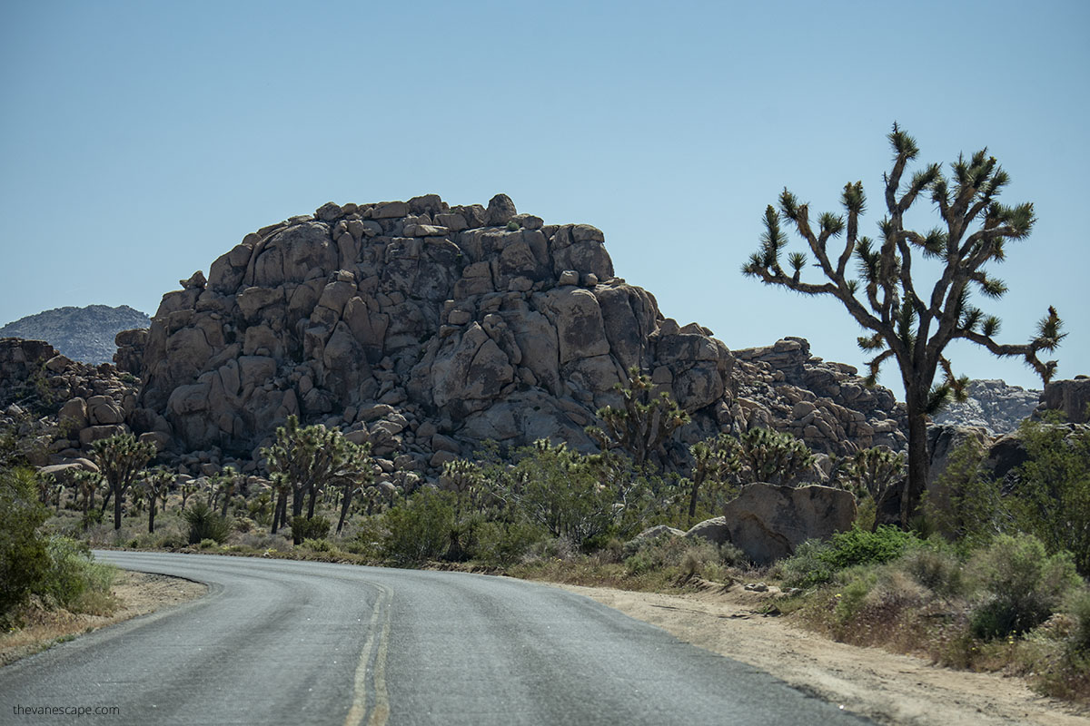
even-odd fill
[{"label": "tall branching Joshua tree rising against the sky at right", "polygon": [[[742,272],[770,285],[840,300],[868,331],[858,342],[863,350],[874,354],[868,361],[871,384],[877,380],[883,362],[891,358],[897,361],[908,409],[908,479],[900,509],[901,525],[907,526],[928,476],[928,416],[940,410],[952,395],[964,398],[968,382],[965,377],[954,376],[943,353],[946,346],[962,339],[998,357],[1020,357],[1047,383],[1056,361],[1042,362],[1038,353],[1053,350],[1064,333],[1055,308],[1050,307],[1028,343],[1004,345],[995,341],[1000,319],[970,303],[972,293],[991,298],[1006,293],[1006,285],[985,271],[985,266],[1002,262],[1006,243],[1028,237],[1034,222],[1032,204],[1007,207],[996,200],[1010,177],[988,149],[968,159],[958,156],[950,164],[950,179],[943,175],[938,164],[930,164],[905,183],[905,171],[919,148],[897,124],[888,139],[894,160],[893,168],[883,175],[885,217],[879,223],[877,239],[859,234],[859,218],[867,206],[862,182],[844,187],[841,204],[847,219],[825,212],[818,218],[816,229],[810,221],[808,205],[800,204],[785,188],[778,210],[772,205],[765,210],[761,248]],[[923,233],[905,226],[906,213],[921,196],[931,198],[941,218],[938,226]],[[779,229],[782,217],[809,246],[824,282],[802,281],[809,259],[801,251],[790,253],[784,269],[782,256],[788,239]],[[841,235],[844,249],[831,257],[827,245]],[[913,258],[921,257],[938,263],[940,273],[930,291],[912,270]],[[852,260],[857,264],[856,278],[848,271]],[[940,371],[943,380],[936,384]]]}]

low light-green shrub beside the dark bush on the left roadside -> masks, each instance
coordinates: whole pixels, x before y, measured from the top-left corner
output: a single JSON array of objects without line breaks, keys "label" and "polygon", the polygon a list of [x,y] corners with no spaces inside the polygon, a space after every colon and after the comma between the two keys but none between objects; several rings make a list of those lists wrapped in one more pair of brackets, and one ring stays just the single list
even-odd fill
[{"label": "low light-green shrub beside the dark bush on the left roadside", "polygon": [[100,611],[108,606],[114,568],[96,563],[84,542],[53,537],[46,546],[49,570],[38,594],[71,611]]}]

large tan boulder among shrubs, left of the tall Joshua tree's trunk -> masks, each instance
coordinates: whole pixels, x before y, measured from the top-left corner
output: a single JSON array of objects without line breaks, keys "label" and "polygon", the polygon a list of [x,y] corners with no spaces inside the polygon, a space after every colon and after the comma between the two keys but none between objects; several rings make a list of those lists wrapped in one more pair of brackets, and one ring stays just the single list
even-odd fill
[{"label": "large tan boulder among shrubs, left of the tall Joshua tree's trunk", "polygon": [[849,529],[856,520],[856,497],[829,487],[754,483],[742,487],[723,516],[730,542],[753,563],[771,565],[807,540]]}]

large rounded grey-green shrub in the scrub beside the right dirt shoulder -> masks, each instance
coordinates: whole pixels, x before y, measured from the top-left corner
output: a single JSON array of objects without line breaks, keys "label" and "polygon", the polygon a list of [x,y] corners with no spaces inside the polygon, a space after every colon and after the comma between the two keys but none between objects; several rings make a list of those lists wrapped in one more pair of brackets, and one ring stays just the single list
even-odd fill
[{"label": "large rounded grey-green shrub in the scrub beside the right dirt shoulder", "polygon": [[1044,623],[1081,582],[1066,552],[1049,555],[1031,534],[1001,534],[970,561],[986,593],[971,616],[981,639],[1021,635]]}]

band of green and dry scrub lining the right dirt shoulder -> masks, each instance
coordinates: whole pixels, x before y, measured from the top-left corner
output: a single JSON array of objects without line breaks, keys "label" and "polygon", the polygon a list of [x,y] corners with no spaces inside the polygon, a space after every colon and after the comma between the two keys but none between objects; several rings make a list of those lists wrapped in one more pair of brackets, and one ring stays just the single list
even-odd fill
[{"label": "band of green and dry scrub lining the right dirt shoulder", "polygon": [[855,532],[775,566],[785,586],[804,588],[783,611],[841,642],[1026,676],[1043,693],[1090,702],[1090,589],[1068,553],[1050,555],[1028,533],[966,552],[893,529],[860,546]]}]

